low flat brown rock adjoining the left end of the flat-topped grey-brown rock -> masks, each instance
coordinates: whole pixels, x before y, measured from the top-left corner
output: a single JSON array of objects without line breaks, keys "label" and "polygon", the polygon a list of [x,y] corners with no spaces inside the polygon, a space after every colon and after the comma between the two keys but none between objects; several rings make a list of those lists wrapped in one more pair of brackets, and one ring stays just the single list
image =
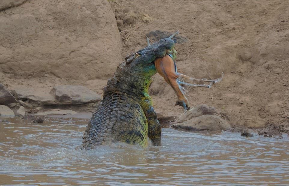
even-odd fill
[{"label": "low flat brown rock adjoining the left end of the flat-topped grey-brown rock", "polygon": [[[34,106],[40,105],[56,105],[53,96],[49,94],[48,91],[37,90],[37,89],[22,89],[15,90],[18,98],[22,101],[28,100]],[[30,107],[26,104],[27,107]]]}]

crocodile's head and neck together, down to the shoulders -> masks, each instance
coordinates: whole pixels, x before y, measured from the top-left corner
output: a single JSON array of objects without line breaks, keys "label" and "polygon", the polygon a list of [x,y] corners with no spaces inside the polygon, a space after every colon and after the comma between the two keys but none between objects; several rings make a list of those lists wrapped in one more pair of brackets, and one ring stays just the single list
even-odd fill
[{"label": "crocodile's head and neck together, down to the shoulders", "polygon": [[104,88],[104,96],[111,92],[125,92],[126,94],[142,95],[148,93],[152,82],[151,76],[157,73],[155,59],[167,54],[175,56],[175,42],[171,39],[161,39],[131,55],[121,63],[108,80]]}]

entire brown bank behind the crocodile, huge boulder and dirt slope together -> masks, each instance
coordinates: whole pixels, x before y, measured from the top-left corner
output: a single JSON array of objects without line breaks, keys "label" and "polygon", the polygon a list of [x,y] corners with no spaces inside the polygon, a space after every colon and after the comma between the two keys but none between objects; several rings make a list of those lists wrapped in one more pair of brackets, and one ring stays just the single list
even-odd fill
[{"label": "entire brown bank behind the crocodile, huge boulder and dirt slope together", "polygon": [[[102,94],[117,64],[146,46],[148,32],[179,30],[187,38],[175,48],[179,72],[208,79],[224,73],[211,89],[188,88],[191,105],[215,107],[231,126],[288,125],[288,1],[109,3],[29,0],[1,6],[0,82],[9,90],[49,92],[66,84]],[[151,95],[163,118],[183,114],[159,75]]]}]

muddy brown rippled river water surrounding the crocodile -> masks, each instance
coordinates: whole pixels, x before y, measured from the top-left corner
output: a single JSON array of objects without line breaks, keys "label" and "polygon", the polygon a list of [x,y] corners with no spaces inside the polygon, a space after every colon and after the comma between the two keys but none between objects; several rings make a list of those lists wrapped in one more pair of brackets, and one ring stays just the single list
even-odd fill
[{"label": "muddy brown rippled river water surrounding the crocodile", "polygon": [[289,185],[289,137],[163,128],[160,147],[84,151],[87,119],[0,123],[0,185]]}]

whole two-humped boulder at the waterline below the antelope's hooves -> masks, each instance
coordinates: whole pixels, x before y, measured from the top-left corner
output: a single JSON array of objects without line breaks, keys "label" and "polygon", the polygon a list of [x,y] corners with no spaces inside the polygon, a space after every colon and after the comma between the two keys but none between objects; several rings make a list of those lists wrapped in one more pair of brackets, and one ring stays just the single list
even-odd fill
[{"label": "whole two-humped boulder at the waterline below the antelope's hooves", "polygon": [[202,104],[187,111],[172,127],[189,131],[217,131],[231,126],[214,107]]}]

